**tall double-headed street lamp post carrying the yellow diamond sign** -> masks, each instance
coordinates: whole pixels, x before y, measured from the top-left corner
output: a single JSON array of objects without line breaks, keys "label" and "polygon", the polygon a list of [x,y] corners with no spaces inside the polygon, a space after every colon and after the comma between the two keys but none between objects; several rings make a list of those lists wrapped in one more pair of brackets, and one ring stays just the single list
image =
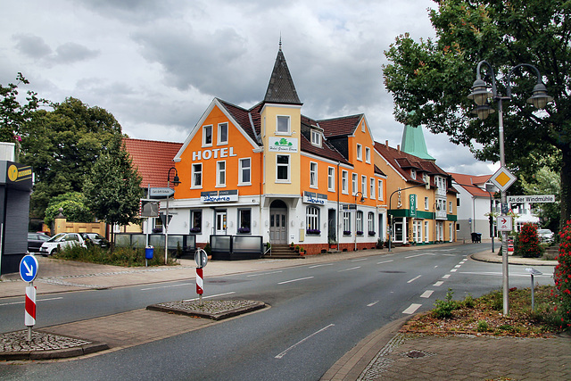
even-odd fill
[{"label": "tall double-headed street lamp post carrying the yellow diamond sign", "polygon": [[[488,89],[488,85],[484,82],[481,77],[481,70],[482,65],[487,67],[489,70],[490,78],[492,79],[492,92]],[[529,63],[520,63],[511,70],[509,70],[507,79],[507,95],[501,96],[498,93],[496,87],[496,79],[495,74],[492,69],[492,65],[486,61],[478,62],[476,68],[476,81],[472,86],[472,92],[468,95],[468,99],[474,100],[476,103],[476,109],[474,112],[480,120],[484,120],[490,115],[494,110],[488,103],[488,98],[492,98],[492,100],[496,101],[498,104],[498,123],[499,123],[499,143],[500,143],[500,165],[502,168],[505,167],[505,153],[504,153],[504,138],[503,138],[503,108],[502,108],[502,101],[506,100],[509,101],[511,99],[511,76],[514,74],[515,70],[519,68],[528,68],[534,71],[535,75],[537,76],[537,84],[534,87],[533,95],[527,99],[528,104],[533,104],[536,108],[542,109],[545,107],[548,102],[552,101],[553,98],[547,94],[547,89],[545,85],[543,85],[542,75],[537,70],[534,65],[530,65]],[[506,208],[507,207],[507,196],[505,189],[501,190],[501,215],[505,216]],[[503,278],[503,314],[509,315],[509,276],[508,276],[508,232],[504,231],[501,233],[501,268],[502,268],[502,278]]]}]

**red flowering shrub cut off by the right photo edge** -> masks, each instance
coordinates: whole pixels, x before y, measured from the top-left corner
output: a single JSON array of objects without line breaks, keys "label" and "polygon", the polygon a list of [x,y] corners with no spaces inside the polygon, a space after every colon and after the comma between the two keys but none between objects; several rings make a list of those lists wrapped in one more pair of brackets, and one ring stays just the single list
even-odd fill
[{"label": "red flowering shrub cut off by the right photo edge", "polygon": [[561,316],[561,328],[568,328],[571,327],[571,219],[559,233],[559,240],[559,263],[555,267],[553,277],[557,293],[555,296],[560,302],[557,311]]}]

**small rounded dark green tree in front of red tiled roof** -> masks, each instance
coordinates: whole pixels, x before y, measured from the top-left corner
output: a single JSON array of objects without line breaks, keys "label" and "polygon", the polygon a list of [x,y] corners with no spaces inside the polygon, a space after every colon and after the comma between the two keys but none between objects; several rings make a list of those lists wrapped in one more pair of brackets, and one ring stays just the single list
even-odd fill
[{"label": "small rounded dark green tree in front of red tiled roof", "polygon": [[106,152],[97,158],[85,180],[83,194],[96,218],[110,225],[128,225],[138,221],[142,178],[120,139],[113,142],[112,148],[118,153]]}]

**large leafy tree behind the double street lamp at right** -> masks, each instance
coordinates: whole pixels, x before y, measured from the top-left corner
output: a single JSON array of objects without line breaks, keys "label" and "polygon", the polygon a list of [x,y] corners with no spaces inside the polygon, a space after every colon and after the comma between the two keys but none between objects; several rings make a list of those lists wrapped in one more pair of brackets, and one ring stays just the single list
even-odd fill
[{"label": "large leafy tree behind the double street lamp at right", "polygon": [[[396,38],[385,56],[385,86],[395,117],[446,133],[468,145],[481,160],[499,160],[497,113],[477,120],[468,100],[476,64],[490,62],[498,91],[506,95],[506,76],[519,63],[531,63],[554,101],[538,112],[532,95],[534,72],[517,70],[512,99],[503,102],[506,162],[518,175],[538,170],[537,158],[560,158],[561,223],[571,207],[571,2],[564,0],[436,0],[429,17],[436,38]],[[490,74],[483,72],[484,74]],[[490,78],[484,78],[490,83]],[[412,112],[414,111],[414,112]]]}]

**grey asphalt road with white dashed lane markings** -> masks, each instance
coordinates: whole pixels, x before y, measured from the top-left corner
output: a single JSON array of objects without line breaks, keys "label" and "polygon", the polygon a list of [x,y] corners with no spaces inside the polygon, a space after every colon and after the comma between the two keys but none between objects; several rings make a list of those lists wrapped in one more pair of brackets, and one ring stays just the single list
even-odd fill
[{"label": "grey asphalt road with white dashed lane markings", "polygon": [[[25,363],[0,371],[9,379],[46,380],[319,379],[362,338],[393,319],[430,310],[449,288],[454,299],[500,289],[501,264],[469,261],[467,255],[474,250],[482,247],[427,247],[398,255],[205,278],[209,295],[259,300],[271,308],[119,352]],[[535,277],[536,283],[552,284],[552,268],[542,271],[545,276]],[[509,272],[509,286],[530,286],[524,267],[510,266]],[[44,326],[192,298],[194,282],[56,297],[60,296],[42,302]],[[21,315],[21,305],[2,302],[4,316],[12,308]],[[2,320],[3,332],[21,328],[21,317],[17,322]]]}]

